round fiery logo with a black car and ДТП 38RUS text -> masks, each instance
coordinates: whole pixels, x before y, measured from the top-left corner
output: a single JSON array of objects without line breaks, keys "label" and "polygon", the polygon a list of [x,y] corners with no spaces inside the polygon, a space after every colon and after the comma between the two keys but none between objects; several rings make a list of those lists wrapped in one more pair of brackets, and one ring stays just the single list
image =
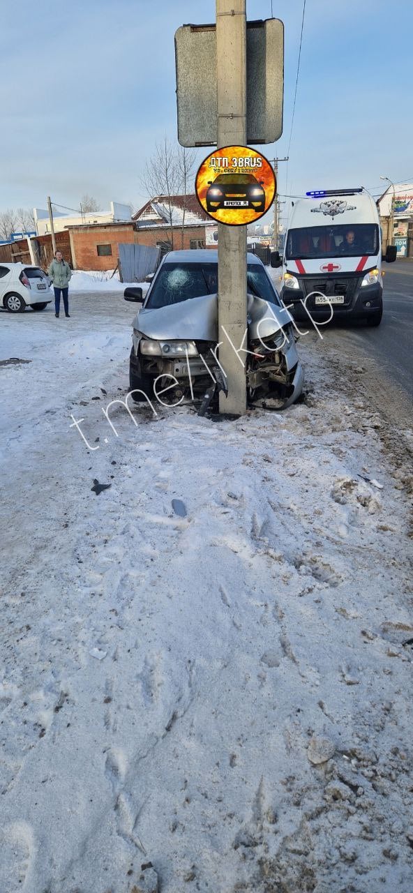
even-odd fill
[{"label": "round fiery logo with a black car and \u0414\u0422\u041f 38RUS text", "polygon": [[274,170],[264,155],[248,146],[215,149],[198,168],[198,202],[213,220],[229,226],[253,223],[274,202]]}]

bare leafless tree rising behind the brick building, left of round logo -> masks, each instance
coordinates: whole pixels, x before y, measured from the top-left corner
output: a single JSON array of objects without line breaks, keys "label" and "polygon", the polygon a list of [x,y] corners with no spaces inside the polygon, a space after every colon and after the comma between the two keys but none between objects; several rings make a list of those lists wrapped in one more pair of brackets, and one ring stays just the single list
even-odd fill
[{"label": "bare leafless tree rising behind the brick building, left of round logo", "polygon": [[170,244],[173,249],[173,196],[181,186],[181,171],[174,146],[166,137],[156,145],[155,152],[147,159],[142,176],[142,183],[148,196],[157,198],[164,196],[166,204],[167,225],[170,227]]}]

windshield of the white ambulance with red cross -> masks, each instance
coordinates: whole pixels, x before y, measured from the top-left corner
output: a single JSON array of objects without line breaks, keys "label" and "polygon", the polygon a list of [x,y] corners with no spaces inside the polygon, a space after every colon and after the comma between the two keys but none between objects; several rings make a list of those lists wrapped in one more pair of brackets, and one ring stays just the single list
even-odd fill
[{"label": "windshield of the white ambulance with red cross", "polygon": [[312,257],[377,255],[379,231],[375,223],[328,224],[289,230],[285,256],[289,260]]}]

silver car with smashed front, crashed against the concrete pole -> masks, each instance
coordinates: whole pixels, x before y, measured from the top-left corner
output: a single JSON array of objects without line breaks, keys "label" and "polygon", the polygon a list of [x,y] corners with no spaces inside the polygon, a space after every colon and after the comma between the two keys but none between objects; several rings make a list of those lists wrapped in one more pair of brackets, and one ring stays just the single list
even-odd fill
[{"label": "silver car with smashed front, crashed against the concrete pole", "polygon": [[[294,403],[303,386],[291,315],[256,255],[247,255],[247,271],[247,337],[233,349],[246,358],[249,403],[269,398],[269,408],[283,409]],[[217,289],[218,253],[213,249],[165,255],[145,298],[141,288],[125,289],[125,300],[143,304],[133,321],[132,399],[176,402],[185,397],[205,400],[207,395],[209,405],[225,390],[216,356]]]}]

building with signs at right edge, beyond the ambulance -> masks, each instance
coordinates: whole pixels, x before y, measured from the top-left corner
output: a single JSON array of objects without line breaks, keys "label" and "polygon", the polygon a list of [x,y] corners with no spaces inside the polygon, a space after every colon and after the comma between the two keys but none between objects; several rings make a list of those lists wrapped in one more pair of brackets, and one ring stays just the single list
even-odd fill
[{"label": "building with signs at right edge, beyond the ambulance", "polygon": [[378,199],[377,207],[384,248],[396,245],[400,257],[413,257],[413,183],[395,183],[394,190],[390,186]]}]

